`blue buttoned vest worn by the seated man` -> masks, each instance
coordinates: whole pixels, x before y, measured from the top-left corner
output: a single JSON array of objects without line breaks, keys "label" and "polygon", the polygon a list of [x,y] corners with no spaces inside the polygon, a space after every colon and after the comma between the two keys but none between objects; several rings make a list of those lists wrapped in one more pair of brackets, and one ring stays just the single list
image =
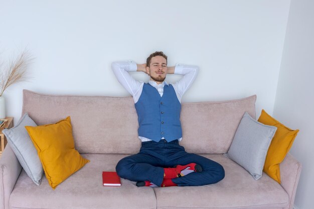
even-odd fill
[{"label": "blue buttoned vest worn by the seated man", "polygon": [[180,122],[181,103],[174,87],[164,86],[161,97],[158,90],[144,83],[142,93],[135,103],[138,116],[138,135],[154,141],[164,137],[168,142],[182,137]]}]

